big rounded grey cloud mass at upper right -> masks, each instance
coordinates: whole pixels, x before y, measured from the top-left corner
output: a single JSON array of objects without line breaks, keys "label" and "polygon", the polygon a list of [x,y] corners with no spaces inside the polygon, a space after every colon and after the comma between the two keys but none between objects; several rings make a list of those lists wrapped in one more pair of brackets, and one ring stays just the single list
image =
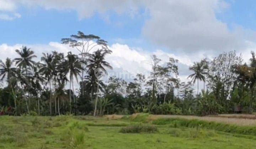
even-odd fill
[{"label": "big rounded grey cloud mass at upper right", "polygon": [[244,46],[215,13],[225,8],[220,0],[168,0],[147,5],[150,19],[143,35],[176,51],[223,51]]}]

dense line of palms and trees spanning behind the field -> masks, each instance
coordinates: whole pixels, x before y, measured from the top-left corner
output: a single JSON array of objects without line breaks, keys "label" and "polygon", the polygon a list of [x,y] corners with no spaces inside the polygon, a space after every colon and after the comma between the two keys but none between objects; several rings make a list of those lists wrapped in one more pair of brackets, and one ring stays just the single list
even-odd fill
[{"label": "dense line of palms and trees spanning behind the field", "polygon": [[[190,82],[178,78],[178,60],[151,56],[149,77],[137,74],[132,82],[96,77],[95,69],[112,69],[105,61],[111,54],[107,42],[95,35],[78,32],[62,39],[79,55],[52,51],[39,62],[32,49],[16,50],[19,57],[0,61],[0,115],[104,115],[152,114],[209,115],[255,111],[256,58],[242,64],[235,51],[213,60],[194,62]],[[98,50],[93,50],[97,48]],[[94,52],[92,52],[94,51]],[[202,91],[199,81],[204,82]],[[74,82],[80,88],[74,89]],[[192,85],[197,83],[197,90]],[[68,88],[66,88],[68,86]]]}]

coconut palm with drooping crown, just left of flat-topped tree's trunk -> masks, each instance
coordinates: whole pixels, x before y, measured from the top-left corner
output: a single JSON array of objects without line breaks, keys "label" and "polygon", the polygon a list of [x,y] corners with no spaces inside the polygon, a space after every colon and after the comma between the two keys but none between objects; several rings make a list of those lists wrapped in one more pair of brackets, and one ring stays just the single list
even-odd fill
[{"label": "coconut palm with drooping crown, just left of flat-topped tree's trunk", "polygon": [[[76,104],[75,100],[75,92],[74,92],[74,77],[76,81],[78,82],[78,75],[81,72],[82,68],[82,62],[79,60],[78,56],[75,54],[72,54],[71,52],[68,52],[68,55],[66,56],[66,60],[63,62],[63,69],[65,72],[65,75],[69,74],[69,114],[71,114],[71,84],[73,88],[73,101]],[[76,109],[75,109],[76,110]]]}]

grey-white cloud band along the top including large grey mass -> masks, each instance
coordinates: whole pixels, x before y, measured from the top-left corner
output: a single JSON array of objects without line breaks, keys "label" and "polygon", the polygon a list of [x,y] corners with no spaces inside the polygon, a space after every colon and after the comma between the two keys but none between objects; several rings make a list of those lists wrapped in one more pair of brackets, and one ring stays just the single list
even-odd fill
[{"label": "grey-white cloud band along the top including large grey mass", "polygon": [[[100,14],[109,21],[108,12],[138,15],[139,9],[149,13],[142,35],[155,44],[178,52],[219,53],[224,50],[247,48],[246,29],[230,30],[216,17],[229,8],[224,0],[0,0],[0,10],[16,10],[17,5],[44,7],[46,10],[74,10],[80,19]],[[0,18],[10,19],[4,15]]]}]

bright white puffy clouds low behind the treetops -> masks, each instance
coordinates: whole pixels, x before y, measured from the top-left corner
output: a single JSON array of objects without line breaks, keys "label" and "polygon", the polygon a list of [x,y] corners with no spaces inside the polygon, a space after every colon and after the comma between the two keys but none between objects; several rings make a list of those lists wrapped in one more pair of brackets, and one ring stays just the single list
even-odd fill
[{"label": "bright white puffy clouds low behind the treetops", "polygon": [[[5,60],[6,57],[11,59],[15,59],[18,57],[15,50],[20,49],[22,44],[16,45],[7,45],[1,44],[0,45],[0,59]],[[51,51],[58,51],[64,54],[67,54],[71,51],[74,54],[79,54],[79,51],[71,48],[68,45],[63,45],[57,42],[50,42],[49,44],[33,44],[27,45],[28,48],[31,48],[35,55],[38,57],[35,59],[36,61],[40,61],[40,57],[42,53],[50,53]],[[169,57],[174,57],[180,61],[179,65],[182,70],[182,74],[185,72],[184,69],[188,67],[186,61],[184,62],[183,56],[174,55],[171,53],[166,53],[161,50],[156,50],[153,52],[144,51],[142,49],[137,50],[137,48],[130,48],[128,45],[124,44],[113,44],[109,47],[112,50],[112,54],[106,56],[106,61],[110,62],[113,70],[110,72],[117,72],[117,73],[130,73],[131,75],[136,75],[137,73],[143,73],[145,75],[149,74],[151,71],[151,55],[155,54],[158,56],[162,62],[161,64],[165,64],[169,61]],[[94,49],[96,50],[96,49]],[[184,64],[183,64],[184,62]],[[119,72],[118,72],[119,71]],[[127,78],[129,79],[129,78]]]}]

